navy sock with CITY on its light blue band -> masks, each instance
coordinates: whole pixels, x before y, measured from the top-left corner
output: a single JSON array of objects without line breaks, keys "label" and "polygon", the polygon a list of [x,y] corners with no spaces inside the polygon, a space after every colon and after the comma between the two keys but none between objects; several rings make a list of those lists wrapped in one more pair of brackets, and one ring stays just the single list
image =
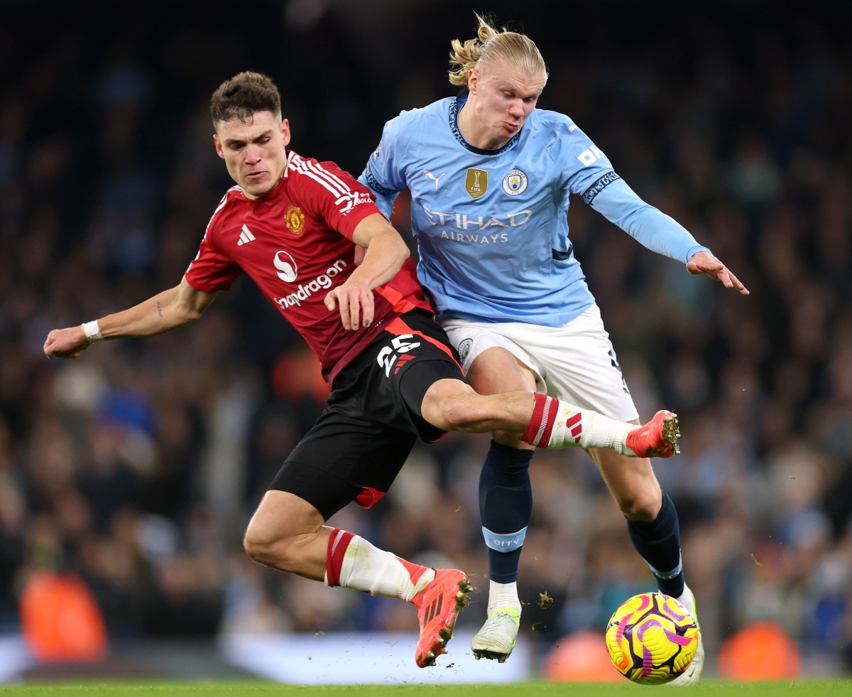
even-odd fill
[{"label": "navy sock with CITY on its light blue band", "polygon": [[508,584],[518,578],[521,545],[533,515],[529,466],[532,450],[491,441],[480,473],[480,520],[488,546],[488,575]]}]

